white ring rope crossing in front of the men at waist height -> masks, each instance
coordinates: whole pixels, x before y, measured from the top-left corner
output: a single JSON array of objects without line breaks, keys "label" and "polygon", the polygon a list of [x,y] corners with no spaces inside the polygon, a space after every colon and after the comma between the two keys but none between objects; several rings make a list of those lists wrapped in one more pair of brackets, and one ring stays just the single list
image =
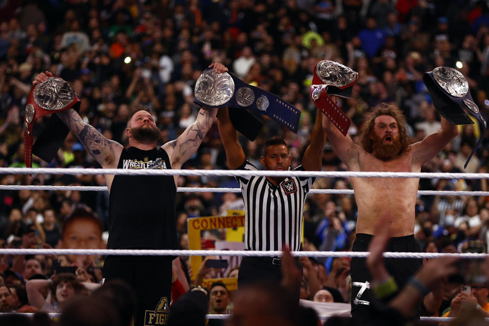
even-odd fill
[{"label": "white ring rope crossing in front of the men at waist height", "polygon": [[[293,251],[296,257],[367,257],[369,252],[351,251]],[[113,255],[113,256],[282,256],[281,251],[252,250],[154,250],[154,249],[0,249],[0,255]],[[455,256],[460,258],[486,258],[488,254],[473,253],[393,253],[386,252],[386,258],[439,258]]]}]

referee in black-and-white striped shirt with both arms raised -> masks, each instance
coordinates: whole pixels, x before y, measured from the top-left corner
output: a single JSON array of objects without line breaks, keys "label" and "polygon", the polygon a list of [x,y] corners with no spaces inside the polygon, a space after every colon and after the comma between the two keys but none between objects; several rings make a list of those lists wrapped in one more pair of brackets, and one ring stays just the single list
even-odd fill
[{"label": "referee in black-and-white striped shirt with both arms raised", "polygon": [[[230,169],[256,170],[246,160],[227,108],[217,114],[219,134]],[[318,111],[302,165],[296,171],[321,170],[321,154],[326,140],[322,127],[323,115]],[[265,142],[261,164],[266,170],[286,171],[291,157],[285,141],[277,136]],[[282,244],[290,250],[301,249],[301,231],[305,196],[314,182],[312,177],[236,177],[245,204],[245,250],[281,251]],[[302,267],[297,259],[302,273]],[[282,278],[279,257],[243,257],[238,273],[238,287],[245,283]],[[299,300],[300,289],[297,288]]]}]

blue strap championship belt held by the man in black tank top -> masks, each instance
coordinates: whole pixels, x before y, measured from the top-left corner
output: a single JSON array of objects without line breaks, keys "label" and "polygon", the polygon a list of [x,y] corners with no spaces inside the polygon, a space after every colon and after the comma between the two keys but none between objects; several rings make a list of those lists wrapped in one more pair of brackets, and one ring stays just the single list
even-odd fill
[{"label": "blue strap championship belt held by the man in black tank top", "polygon": [[[210,107],[228,107],[234,128],[249,140],[255,140],[263,124],[256,114],[268,116],[297,133],[301,111],[277,95],[249,85],[232,73],[202,72],[194,90],[194,103]],[[243,110],[244,109],[244,110]]]}]

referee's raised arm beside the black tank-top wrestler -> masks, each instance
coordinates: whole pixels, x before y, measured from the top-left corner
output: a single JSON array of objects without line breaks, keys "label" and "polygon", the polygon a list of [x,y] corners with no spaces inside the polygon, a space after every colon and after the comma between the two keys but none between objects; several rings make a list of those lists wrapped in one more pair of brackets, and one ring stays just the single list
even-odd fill
[{"label": "referee's raised arm beside the black tank-top wrestler", "polygon": [[224,151],[226,152],[228,167],[234,170],[245,162],[246,157],[243,148],[238,142],[236,129],[234,129],[233,123],[229,118],[228,108],[219,109],[219,113],[217,114],[217,126],[219,128],[219,136],[224,145]]}]

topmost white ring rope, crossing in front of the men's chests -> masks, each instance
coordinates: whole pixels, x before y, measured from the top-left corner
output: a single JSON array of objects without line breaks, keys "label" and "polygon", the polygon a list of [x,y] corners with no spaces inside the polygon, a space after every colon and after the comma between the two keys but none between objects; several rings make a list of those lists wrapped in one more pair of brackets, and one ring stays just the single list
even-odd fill
[{"label": "topmost white ring rope, crossing in front of the men's chests", "polygon": [[318,178],[426,178],[426,179],[489,179],[489,173],[443,172],[357,172],[357,171],[271,171],[271,170],[173,170],[173,169],[87,169],[3,167],[0,174],[114,174],[114,175],[205,175],[233,177],[318,177]]}]

